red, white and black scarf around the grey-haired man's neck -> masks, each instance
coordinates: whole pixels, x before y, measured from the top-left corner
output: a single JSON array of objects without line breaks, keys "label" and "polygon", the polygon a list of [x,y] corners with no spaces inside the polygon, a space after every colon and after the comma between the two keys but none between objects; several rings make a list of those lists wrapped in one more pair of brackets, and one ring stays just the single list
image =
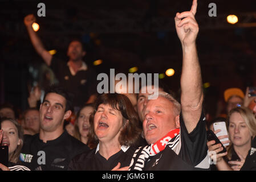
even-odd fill
[{"label": "red, white and black scarf around the grey-haired man's neck", "polygon": [[[150,144],[145,147],[139,147],[132,157],[132,162],[129,166],[129,170],[138,170],[143,171],[145,163],[148,162],[149,156],[153,156],[161,152],[165,149],[166,146],[173,148],[178,141],[170,142],[174,137],[180,134],[180,129],[170,130],[168,134],[166,134],[161,139],[157,140],[156,143]],[[177,137],[177,140],[179,137]],[[176,140],[176,139],[175,139]]]}]

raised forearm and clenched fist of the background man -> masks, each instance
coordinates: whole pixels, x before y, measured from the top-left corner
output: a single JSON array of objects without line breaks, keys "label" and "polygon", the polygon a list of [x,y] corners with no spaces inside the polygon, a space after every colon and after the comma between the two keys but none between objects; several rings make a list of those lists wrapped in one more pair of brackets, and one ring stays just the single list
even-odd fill
[{"label": "raised forearm and clenched fist of the background man", "polygon": [[40,38],[32,28],[32,24],[35,22],[35,16],[32,14],[27,15],[24,18],[24,24],[27,27],[27,32],[29,33],[30,40],[34,46],[36,52],[43,58],[44,62],[50,66],[52,55],[44,48]]}]

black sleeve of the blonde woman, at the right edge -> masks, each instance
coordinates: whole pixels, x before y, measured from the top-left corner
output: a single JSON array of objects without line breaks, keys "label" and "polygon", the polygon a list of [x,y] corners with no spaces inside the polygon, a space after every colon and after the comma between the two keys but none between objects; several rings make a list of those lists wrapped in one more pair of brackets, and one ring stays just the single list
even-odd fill
[{"label": "black sleeve of the blonde woman, at the right edge", "polygon": [[251,150],[249,150],[245,163],[243,164],[241,171],[256,171],[256,137],[251,140]]}]

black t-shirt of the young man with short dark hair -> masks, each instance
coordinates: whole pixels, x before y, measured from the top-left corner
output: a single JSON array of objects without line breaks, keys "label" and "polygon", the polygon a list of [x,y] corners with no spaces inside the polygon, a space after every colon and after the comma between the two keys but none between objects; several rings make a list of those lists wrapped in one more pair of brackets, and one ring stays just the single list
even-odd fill
[{"label": "black t-shirt of the young man with short dark hair", "polygon": [[67,170],[74,156],[89,151],[90,148],[72,137],[65,130],[59,138],[46,143],[39,134],[25,135],[20,160],[31,170],[55,171]]}]

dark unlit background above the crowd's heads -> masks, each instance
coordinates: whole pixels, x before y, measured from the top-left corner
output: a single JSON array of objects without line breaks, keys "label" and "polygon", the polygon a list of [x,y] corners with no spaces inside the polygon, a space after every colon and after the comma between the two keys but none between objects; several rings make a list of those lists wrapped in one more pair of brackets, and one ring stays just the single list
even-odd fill
[{"label": "dark unlit background above the crowd's heads", "polygon": [[[39,2],[46,5],[46,16],[38,17]],[[209,17],[209,3],[217,5],[217,17]],[[197,38],[206,99],[212,109],[223,101],[226,88],[256,86],[256,6],[255,1],[198,0]],[[56,49],[68,60],[66,51],[72,38],[86,45],[86,63],[102,59],[94,66],[97,73],[165,73],[173,68],[174,76],[162,79],[177,92],[180,88],[182,51],[174,27],[177,12],[190,10],[192,0],[94,0],[94,1],[0,1],[0,104],[27,107],[28,87],[36,81],[36,69],[43,63],[27,34],[23,18],[36,15],[44,47]],[[226,16],[235,14],[239,22],[231,25]],[[31,68],[34,69],[31,70]]]}]

